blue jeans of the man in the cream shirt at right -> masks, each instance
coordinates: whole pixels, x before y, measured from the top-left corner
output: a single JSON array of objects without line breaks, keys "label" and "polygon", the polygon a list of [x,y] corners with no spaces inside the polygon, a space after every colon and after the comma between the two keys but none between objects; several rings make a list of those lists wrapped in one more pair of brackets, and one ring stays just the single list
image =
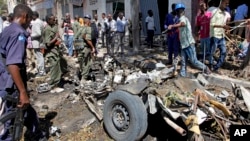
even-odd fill
[{"label": "blue jeans of the man in the cream shirt at right", "polygon": [[209,63],[210,64],[213,64],[213,55],[214,55],[217,47],[220,50],[220,57],[217,60],[217,64],[213,67],[214,70],[218,70],[223,65],[225,58],[226,58],[227,48],[226,48],[225,38],[219,39],[219,38],[212,37],[210,39],[210,47],[211,47],[211,52],[209,55]]}]

